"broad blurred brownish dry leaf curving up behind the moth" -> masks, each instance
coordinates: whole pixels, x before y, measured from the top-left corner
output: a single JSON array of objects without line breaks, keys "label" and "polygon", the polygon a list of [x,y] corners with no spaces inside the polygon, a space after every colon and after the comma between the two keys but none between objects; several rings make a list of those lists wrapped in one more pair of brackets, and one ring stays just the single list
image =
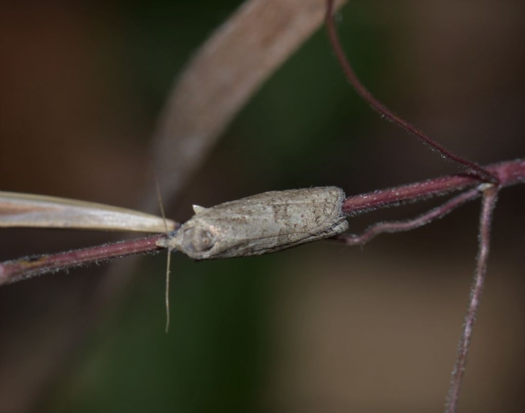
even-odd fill
[{"label": "broad blurred brownish dry leaf curving up behind the moth", "polygon": [[[168,206],[237,112],[319,28],[325,13],[324,0],[251,0],[196,52],[170,93],[155,136],[153,162]],[[145,199],[153,206],[156,198],[151,192]]]}]

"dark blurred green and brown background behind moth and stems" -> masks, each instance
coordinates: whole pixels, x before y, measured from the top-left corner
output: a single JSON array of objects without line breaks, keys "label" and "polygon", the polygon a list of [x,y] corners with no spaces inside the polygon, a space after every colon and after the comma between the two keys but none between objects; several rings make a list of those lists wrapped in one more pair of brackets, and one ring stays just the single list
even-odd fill
[{"label": "dark blurred green and brown background behind moth and stems", "polygon": [[[148,148],[174,77],[241,3],[3,2],[0,188],[137,207],[154,185]],[[523,156],[523,2],[351,1],[338,28],[376,97],[450,150],[480,163]],[[320,30],[238,115],[170,216],[264,190],[358,194],[456,170],[355,96]],[[523,189],[503,190],[495,213],[463,412],[525,408]],[[472,203],[362,249],[175,255],[167,335],[165,255],[134,264],[96,321],[108,266],[2,287],[0,411],[440,411],[478,213]],[[119,237],[0,232],[1,260]]]}]

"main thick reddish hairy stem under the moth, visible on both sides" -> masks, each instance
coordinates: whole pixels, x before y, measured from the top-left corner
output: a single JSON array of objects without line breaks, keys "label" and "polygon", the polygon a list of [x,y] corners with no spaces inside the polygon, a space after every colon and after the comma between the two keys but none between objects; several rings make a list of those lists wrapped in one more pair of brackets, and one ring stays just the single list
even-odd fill
[{"label": "main thick reddish hairy stem under the moth, visible on both sides", "polygon": [[[525,160],[518,159],[488,165],[487,170],[498,176],[501,182],[500,187],[525,182]],[[478,179],[469,175],[444,176],[410,185],[377,190],[369,194],[351,196],[345,199],[342,210],[348,215],[357,215],[367,210],[414,202],[476,185],[479,185]],[[90,262],[155,252],[163,248],[155,245],[155,242],[162,237],[164,235],[155,235],[29,259],[5,261],[0,263],[0,285]]]}]

